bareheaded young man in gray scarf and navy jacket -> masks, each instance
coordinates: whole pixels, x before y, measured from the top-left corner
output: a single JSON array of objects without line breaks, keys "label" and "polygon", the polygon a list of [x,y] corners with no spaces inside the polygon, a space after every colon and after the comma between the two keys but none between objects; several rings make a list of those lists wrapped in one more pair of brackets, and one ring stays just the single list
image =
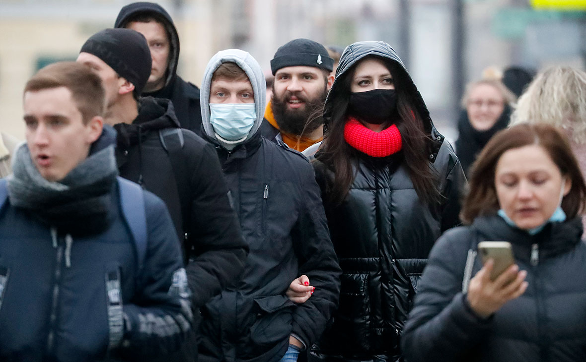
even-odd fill
[{"label": "bareheaded young man in gray scarf and navy jacket", "polygon": [[[49,65],[23,102],[27,143],[0,180],[0,360],[179,349],[192,327],[179,243],[161,199],[117,178],[100,78],[83,64]],[[122,211],[129,188],[142,215]],[[131,232],[141,217],[142,257]]]}]

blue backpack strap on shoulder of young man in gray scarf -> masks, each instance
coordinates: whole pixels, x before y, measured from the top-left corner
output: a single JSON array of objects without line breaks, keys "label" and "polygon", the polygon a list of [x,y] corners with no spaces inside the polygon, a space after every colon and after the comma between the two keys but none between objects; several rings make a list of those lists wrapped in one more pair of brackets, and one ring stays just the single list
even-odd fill
[{"label": "blue backpack strap on shoulder of young man in gray scarf", "polygon": [[120,187],[120,205],[126,220],[134,246],[137,251],[138,270],[142,270],[147,257],[147,213],[142,188],[134,182],[118,177]]}]

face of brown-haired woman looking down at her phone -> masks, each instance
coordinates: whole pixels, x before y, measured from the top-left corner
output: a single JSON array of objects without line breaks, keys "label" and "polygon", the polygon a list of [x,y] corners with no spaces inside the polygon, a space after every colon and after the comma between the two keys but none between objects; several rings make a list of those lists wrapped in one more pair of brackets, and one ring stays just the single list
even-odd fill
[{"label": "face of brown-haired woman looking down at her phone", "polygon": [[570,192],[571,180],[547,151],[537,145],[510,149],[500,156],[495,171],[500,208],[520,229],[543,225],[560,204],[560,193]]}]

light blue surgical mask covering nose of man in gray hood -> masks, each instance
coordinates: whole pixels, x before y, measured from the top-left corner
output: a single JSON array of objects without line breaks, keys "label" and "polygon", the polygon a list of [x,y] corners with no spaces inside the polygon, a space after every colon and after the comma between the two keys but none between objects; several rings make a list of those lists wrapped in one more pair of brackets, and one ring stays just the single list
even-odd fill
[{"label": "light blue surgical mask covering nose of man in gray hood", "polygon": [[210,103],[210,123],[225,140],[237,141],[248,136],[256,120],[256,108],[250,104]]}]

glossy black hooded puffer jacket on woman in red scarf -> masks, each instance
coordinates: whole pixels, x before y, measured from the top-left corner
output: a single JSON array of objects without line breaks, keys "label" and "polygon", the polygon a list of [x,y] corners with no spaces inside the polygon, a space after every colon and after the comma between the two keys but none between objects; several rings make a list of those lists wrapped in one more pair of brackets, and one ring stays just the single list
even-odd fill
[{"label": "glossy black hooded puffer jacket on woman in red scarf", "polygon": [[[348,71],[356,61],[374,54],[401,65],[383,42],[353,44],[342,56],[336,74]],[[318,345],[320,354],[343,358],[400,356],[398,337],[410,311],[417,282],[435,240],[459,223],[458,199],[464,173],[452,147],[435,130],[429,112],[407,71],[403,69],[412,104],[424,119],[430,142],[427,151],[437,173],[436,187],[445,197],[437,204],[423,204],[404,167],[401,152],[374,158],[355,151],[355,180],[341,205],[328,202],[333,171],[322,163],[318,151],[314,167],[322,188],[332,243],[342,267],[340,306],[333,325]],[[336,92],[336,82],[326,101]],[[333,93],[332,93],[333,92]]]}]

